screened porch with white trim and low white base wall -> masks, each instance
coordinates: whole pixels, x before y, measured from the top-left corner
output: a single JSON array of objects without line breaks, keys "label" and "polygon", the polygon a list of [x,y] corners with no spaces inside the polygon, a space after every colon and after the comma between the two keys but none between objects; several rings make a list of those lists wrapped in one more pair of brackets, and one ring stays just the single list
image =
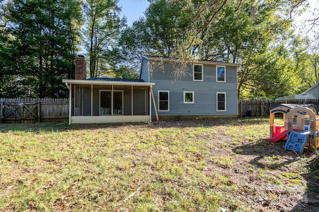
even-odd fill
[{"label": "screened porch with white trim and low white base wall", "polygon": [[155,83],[63,80],[69,88],[69,124],[152,121]]}]

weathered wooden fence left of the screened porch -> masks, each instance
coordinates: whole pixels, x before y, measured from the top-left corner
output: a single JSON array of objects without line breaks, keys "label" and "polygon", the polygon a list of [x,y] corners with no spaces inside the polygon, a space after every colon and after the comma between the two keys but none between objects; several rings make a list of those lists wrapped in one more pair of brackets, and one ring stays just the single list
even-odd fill
[{"label": "weathered wooden fence left of the screened porch", "polygon": [[63,122],[69,118],[69,99],[0,99],[0,123]]}]

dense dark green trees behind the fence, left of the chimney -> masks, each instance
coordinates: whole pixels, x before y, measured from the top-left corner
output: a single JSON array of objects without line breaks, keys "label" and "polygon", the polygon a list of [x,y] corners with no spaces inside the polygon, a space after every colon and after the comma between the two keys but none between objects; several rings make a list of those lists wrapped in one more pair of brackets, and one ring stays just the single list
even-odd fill
[{"label": "dense dark green trees behind the fence, left of the chimney", "polygon": [[[3,97],[66,97],[62,78],[74,75],[79,44],[78,0],[14,0],[9,6],[1,77]],[[5,92],[4,92],[5,91]]]}]

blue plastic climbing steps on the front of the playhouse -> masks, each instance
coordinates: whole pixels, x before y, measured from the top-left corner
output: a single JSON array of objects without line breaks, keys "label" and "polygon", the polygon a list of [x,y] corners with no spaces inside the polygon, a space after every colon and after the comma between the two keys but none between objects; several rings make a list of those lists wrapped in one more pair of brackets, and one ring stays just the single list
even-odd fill
[{"label": "blue plastic climbing steps on the front of the playhouse", "polygon": [[309,131],[291,132],[285,144],[285,150],[293,150],[299,153],[303,153],[308,138]]}]

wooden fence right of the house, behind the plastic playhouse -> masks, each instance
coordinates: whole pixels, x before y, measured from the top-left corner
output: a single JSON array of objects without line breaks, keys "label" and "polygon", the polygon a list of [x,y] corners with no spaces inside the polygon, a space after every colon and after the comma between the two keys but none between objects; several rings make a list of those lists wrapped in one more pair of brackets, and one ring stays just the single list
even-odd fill
[{"label": "wooden fence right of the house, behind the plastic playhouse", "polygon": [[319,108],[319,99],[238,100],[238,115],[243,117],[247,111],[251,111],[255,117],[269,116],[269,109],[278,104],[314,104]]}]

